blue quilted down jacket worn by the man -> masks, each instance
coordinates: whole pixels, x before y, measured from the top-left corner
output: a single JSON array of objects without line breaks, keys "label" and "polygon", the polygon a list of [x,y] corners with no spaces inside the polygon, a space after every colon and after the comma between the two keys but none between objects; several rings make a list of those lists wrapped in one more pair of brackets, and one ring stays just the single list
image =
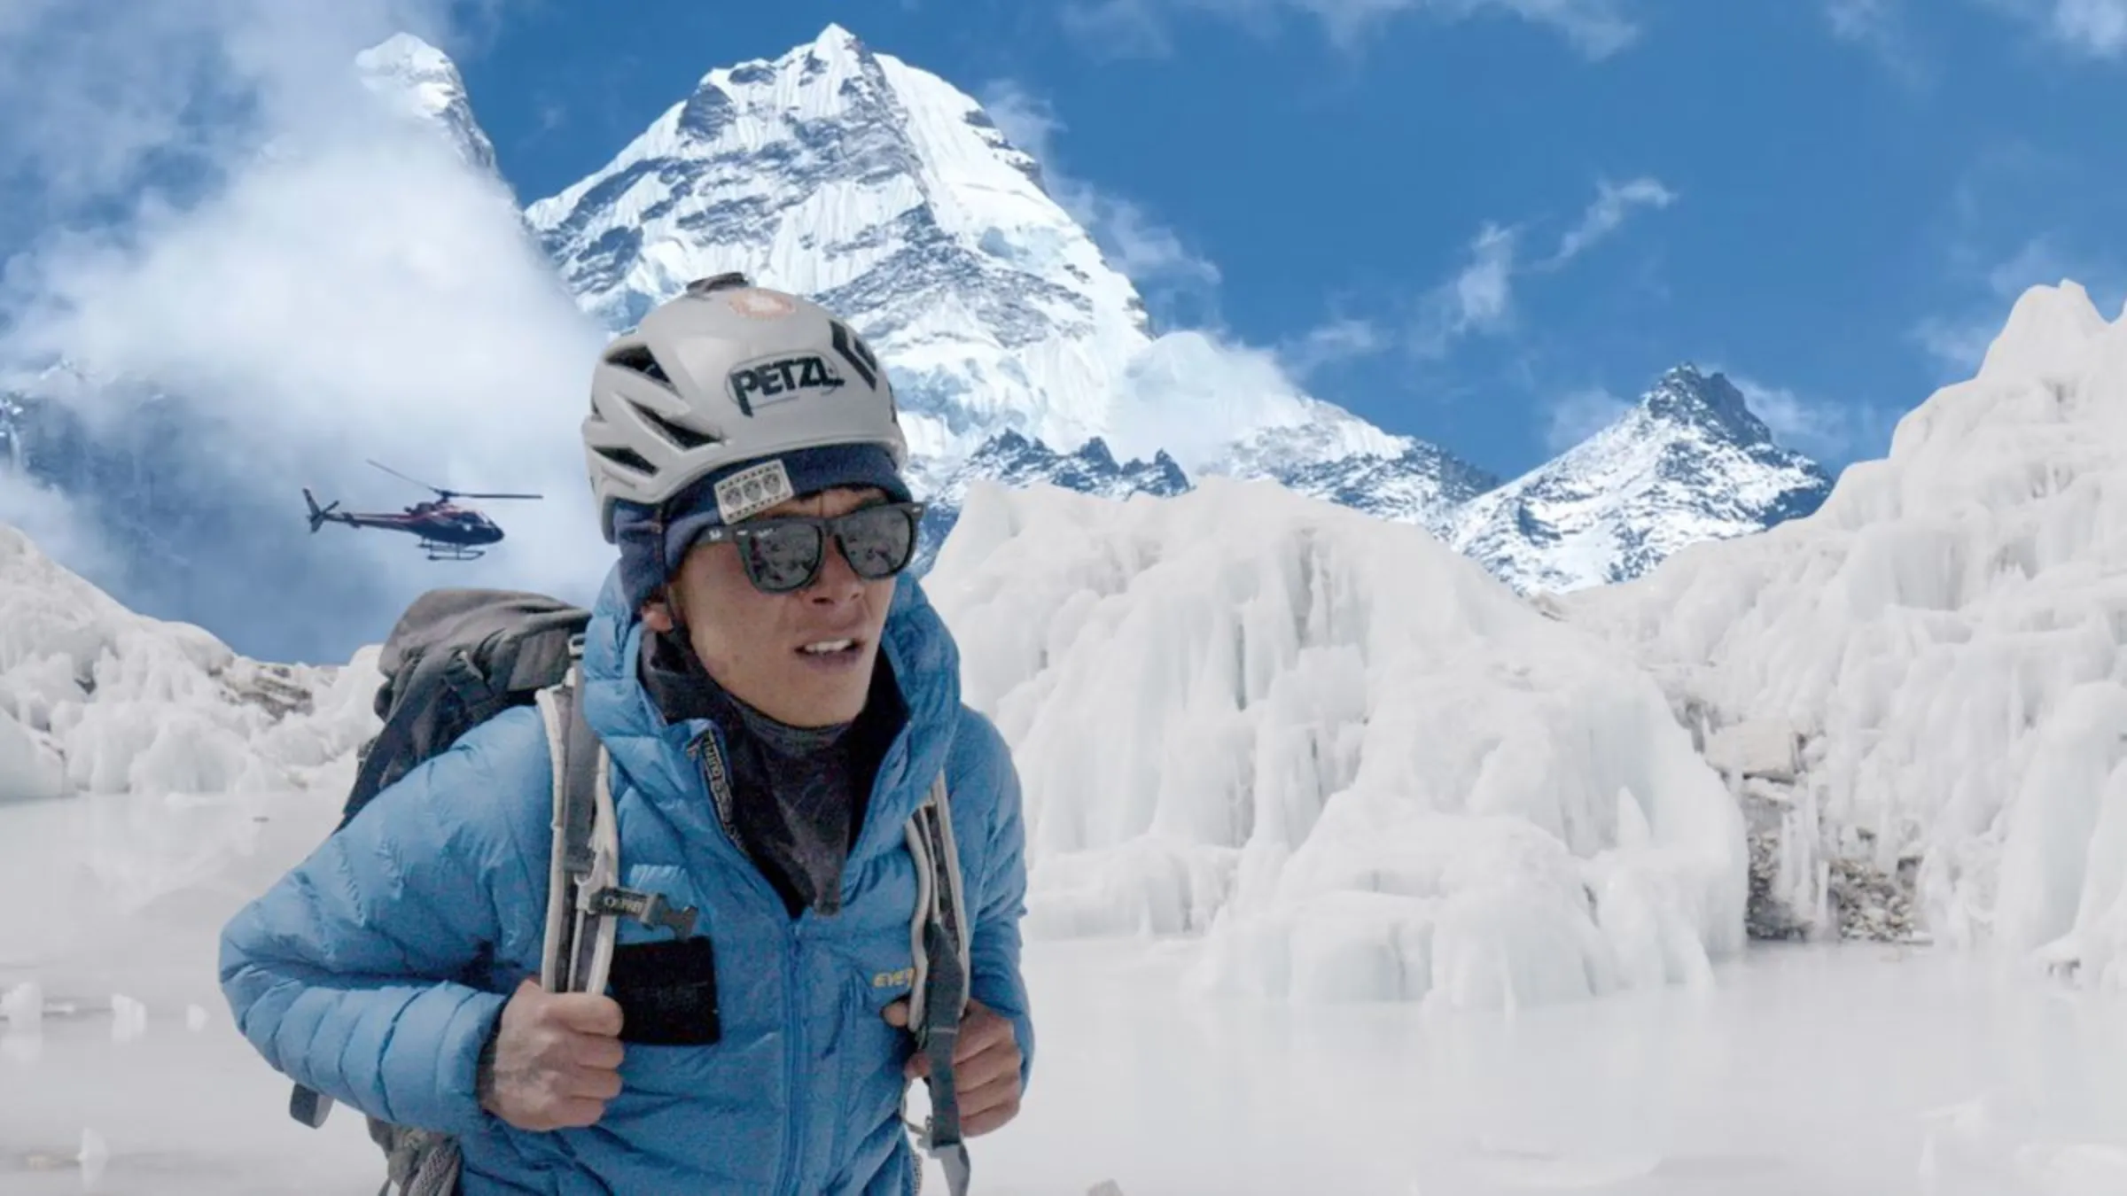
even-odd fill
[{"label": "blue quilted down jacket worn by the man", "polygon": [[[1010,1017],[1032,1066],[1019,975],[1019,777],[998,730],[959,702],[957,649],[902,579],[881,649],[908,726],[878,768],[842,911],[791,919],[723,832],[689,743],[636,681],[642,628],[608,579],[585,643],[585,711],[613,764],[634,890],[700,909],[721,1041],[625,1045],[623,1092],[587,1130],[523,1132],[479,1107],[481,1049],[547,911],[551,766],[530,709],[504,713],[387,787],[223,928],[221,987],[283,1075],[364,1113],[462,1136],[464,1194],[915,1192],[906,1030],[885,1024],[915,964],[904,821],[940,768],[953,796],[976,1000]],[[621,943],[666,930],[621,924]]]}]

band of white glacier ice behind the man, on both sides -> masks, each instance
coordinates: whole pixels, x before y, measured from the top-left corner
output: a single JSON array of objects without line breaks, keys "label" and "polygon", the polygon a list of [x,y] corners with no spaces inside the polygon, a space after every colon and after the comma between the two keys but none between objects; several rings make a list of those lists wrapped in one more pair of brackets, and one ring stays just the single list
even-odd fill
[{"label": "band of white glacier ice behind the man, on both sides", "polygon": [[[1772,532],[1527,600],[1263,481],[974,481],[929,575],[1025,779],[1032,936],[1448,1007],[1702,983],[1753,919],[2127,985],[2127,321],[2027,294]],[[245,660],[0,530],[0,796],[338,800],[374,647]]]}]

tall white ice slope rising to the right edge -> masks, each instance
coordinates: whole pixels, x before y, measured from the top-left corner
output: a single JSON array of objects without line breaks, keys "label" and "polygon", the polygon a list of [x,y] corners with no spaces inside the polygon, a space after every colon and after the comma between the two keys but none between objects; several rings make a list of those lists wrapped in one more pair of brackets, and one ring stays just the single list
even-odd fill
[{"label": "tall white ice slope rising to the right edge", "polygon": [[1708,724],[1797,924],[1889,894],[2127,985],[2127,321],[2082,287],[2027,292],[1814,515],[1559,609]]}]

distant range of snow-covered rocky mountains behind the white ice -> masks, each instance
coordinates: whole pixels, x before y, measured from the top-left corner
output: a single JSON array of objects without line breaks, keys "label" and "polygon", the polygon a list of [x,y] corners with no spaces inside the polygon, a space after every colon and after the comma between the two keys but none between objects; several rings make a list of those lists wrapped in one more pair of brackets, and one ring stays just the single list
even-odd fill
[{"label": "distant range of snow-covered rocky mountains behind the white ice", "polygon": [[[381,102],[496,172],[442,51],[400,34],[364,51],[357,70]],[[583,311],[613,330],[723,270],[810,294],[861,328],[889,364],[912,472],[934,504],[925,562],[974,479],[1166,496],[1229,475],[1425,526],[1517,589],[1574,589],[1804,515],[1831,487],[1821,466],[1774,443],[1727,379],[1693,366],[1517,479],[1289,383],[1225,381],[1206,368],[1208,338],[1151,330],[1132,281],[981,104],[840,26],[772,62],[710,70],[606,166],[525,204],[521,219]],[[81,370],[68,377],[79,385]],[[166,568],[196,570],[200,596],[153,613],[232,624],[213,619],[225,583],[211,568],[240,564],[249,594],[279,585],[259,570],[300,568],[240,549],[228,517],[211,515],[211,481],[166,460],[202,428],[89,443],[53,411],[64,394],[45,379],[0,394],[0,468],[94,487],[98,519],[115,521],[121,543],[140,536],[128,519],[153,494],[155,551]],[[1187,430],[1189,443],[1159,443],[1157,428]],[[98,581],[138,598],[123,581]],[[217,630],[242,643],[240,626]]]}]

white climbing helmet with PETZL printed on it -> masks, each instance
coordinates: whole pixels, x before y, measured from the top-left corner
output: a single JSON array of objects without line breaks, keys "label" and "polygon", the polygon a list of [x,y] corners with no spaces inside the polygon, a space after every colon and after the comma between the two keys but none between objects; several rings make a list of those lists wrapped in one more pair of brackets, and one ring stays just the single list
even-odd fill
[{"label": "white climbing helmet with PETZL printed on it", "polygon": [[883,445],[908,462],[893,387],[827,309],[744,275],[687,285],[600,353],[583,451],[598,524],[655,506],[738,462],[821,445]]}]

